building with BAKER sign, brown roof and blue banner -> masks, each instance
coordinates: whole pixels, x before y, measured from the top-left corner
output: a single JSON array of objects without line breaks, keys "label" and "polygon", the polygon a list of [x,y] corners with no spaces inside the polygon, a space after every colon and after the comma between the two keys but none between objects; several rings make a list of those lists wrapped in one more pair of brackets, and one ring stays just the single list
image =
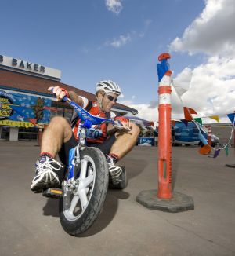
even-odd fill
[{"label": "building with BAKER sign, brown roof and blue banner", "polygon": [[[53,116],[71,119],[73,109],[66,103],[57,102],[47,90],[60,86],[78,95],[96,101],[92,93],[60,82],[61,71],[30,61],[0,55],[0,140],[37,140],[38,131]],[[137,114],[134,108],[115,104],[117,115]]]}]

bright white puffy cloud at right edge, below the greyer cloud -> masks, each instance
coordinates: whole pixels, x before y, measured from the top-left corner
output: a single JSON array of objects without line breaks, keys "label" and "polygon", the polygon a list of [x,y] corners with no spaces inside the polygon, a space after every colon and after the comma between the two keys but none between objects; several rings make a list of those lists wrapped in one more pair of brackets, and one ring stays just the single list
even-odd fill
[{"label": "bright white puffy cloud at right edge, below the greyer cloud", "polygon": [[226,115],[234,111],[235,59],[211,58],[193,69],[190,90],[183,102],[199,115]]}]

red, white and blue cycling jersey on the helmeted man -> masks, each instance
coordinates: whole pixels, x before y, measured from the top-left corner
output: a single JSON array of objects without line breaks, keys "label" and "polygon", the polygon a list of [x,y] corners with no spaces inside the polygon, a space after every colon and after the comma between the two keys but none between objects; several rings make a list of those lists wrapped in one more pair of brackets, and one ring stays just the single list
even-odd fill
[{"label": "red, white and blue cycling jersey on the helmeted man", "polygon": [[[91,113],[92,115],[100,116],[103,118],[110,119],[110,113],[104,113],[99,111],[99,106],[96,101],[87,101],[85,110]],[[74,137],[78,140],[78,134],[81,129],[81,119],[73,116],[72,120],[72,130],[74,132]],[[107,139],[107,124],[93,125],[90,129],[87,130],[86,141],[88,143],[103,143]]]}]

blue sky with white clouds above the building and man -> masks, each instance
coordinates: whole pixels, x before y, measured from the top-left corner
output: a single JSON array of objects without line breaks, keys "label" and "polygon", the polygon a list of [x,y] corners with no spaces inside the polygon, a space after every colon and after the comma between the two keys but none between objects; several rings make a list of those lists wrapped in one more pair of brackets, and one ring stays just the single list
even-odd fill
[{"label": "blue sky with white clouds above the building and man", "polygon": [[8,0],[0,54],[60,69],[61,82],[95,93],[110,79],[119,102],[158,120],[157,57],[171,54],[172,119],[235,111],[235,0]]}]

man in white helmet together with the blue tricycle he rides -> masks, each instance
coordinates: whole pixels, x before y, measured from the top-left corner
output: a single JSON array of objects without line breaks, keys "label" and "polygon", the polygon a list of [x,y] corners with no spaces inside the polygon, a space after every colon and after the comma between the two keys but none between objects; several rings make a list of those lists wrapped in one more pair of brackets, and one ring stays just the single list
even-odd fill
[{"label": "man in white helmet together with the blue tricycle he rides", "polygon": [[[111,108],[121,94],[115,82],[98,82],[93,102],[59,86],[49,90],[59,101],[71,104],[75,112],[71,124],[57,116],[43,133],[31,190],[45,196],[58,195],[63,229],[78,235],[99,215],[107,185],[126,187],[125,168],[116,163],[136,144],[139,127],[121,116],[110,118]],[[65,171],[55,159],[57,154],[67,166]]]}]

